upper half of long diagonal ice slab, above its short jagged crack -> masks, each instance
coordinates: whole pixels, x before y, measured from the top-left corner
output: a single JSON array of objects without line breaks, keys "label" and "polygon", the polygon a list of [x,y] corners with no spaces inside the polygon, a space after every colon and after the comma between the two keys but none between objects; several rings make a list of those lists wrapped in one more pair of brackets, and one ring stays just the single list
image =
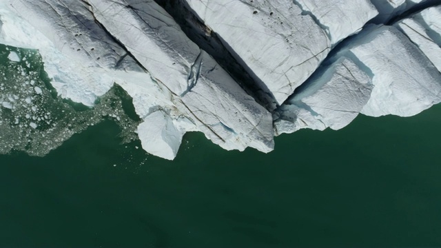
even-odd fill
[{"label": "upper half of long diagonal ice slab, above its short jagged crack", "polygon": [[189,72],[200,50],[163,8],[154,1],[90,0],[90,3],[96,19],[158,81],[178,95],[187,90]]}]

